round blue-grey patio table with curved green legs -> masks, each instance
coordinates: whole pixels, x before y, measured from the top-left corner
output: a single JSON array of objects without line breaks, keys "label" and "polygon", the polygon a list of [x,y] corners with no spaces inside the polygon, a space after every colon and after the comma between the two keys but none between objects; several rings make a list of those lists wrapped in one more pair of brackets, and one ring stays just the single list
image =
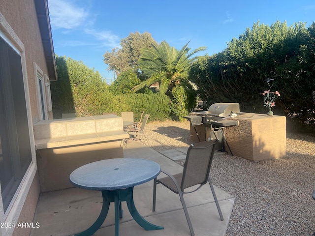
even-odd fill
[{"label": "round blue-grey patio table with curved green legs", "polygon": [[70,182],[79,188],[102,192],[103,204],[95,223],[76,236],[91,236],[104,222],[109,205],[115,203],[115,236],[119,236],[119,218],[123,217],[121,202],[126,201],[133,219],[145,230],[160,230],[146,221],[137,211],[133,202],[133,187],[158,176],[158,163],[138,158],[116,158],[89,163],[70,174]]}]

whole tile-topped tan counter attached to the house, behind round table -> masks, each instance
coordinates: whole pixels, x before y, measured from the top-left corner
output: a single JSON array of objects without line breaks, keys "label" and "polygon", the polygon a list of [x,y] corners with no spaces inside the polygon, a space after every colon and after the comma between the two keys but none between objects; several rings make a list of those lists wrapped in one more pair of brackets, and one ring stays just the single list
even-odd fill
[{"label": "whole tile-topped tan counter attached to the house, behind round table", "polygon": [[116,115],[44,120],[33,129],[41,192],[73,187],[69,175],[80,166],[124,157],[129,137]]}]

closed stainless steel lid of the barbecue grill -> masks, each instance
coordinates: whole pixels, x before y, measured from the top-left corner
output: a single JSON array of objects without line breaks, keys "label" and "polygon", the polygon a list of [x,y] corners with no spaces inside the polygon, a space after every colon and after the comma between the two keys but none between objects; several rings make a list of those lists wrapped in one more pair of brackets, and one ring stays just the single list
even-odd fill
[{"label": "closed stainless steel lid of the barbecue grill", "polygon": [[219,102],[212,104],[207,115],[214,115],[218,117],[227,117],[233,113],[240,113],[240,104],[239,103],[228,103],[228,102]]}]

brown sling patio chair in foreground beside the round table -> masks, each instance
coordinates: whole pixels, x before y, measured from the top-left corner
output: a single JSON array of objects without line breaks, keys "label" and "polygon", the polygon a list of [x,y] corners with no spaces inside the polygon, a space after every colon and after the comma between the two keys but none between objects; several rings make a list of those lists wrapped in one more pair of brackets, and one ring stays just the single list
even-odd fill
[{"label": "brown sling patio chair in foreground beside the round table", "polygon": [[[210,140],[204,141],[201,143],[192,144],[187,151],[186,162],[184,164],[183,173],[170,175],[164,170],[161,170],[162,173],[166,174],[167,177],[163,177],[160,179],[154,179],[154,187],[153,187],[153,211],[156,210],[156,195],[157,195],[157,184],[161,183],[174,193],[179,194],[180,200],[182,202],[182,206],[185,212],[185,216],[188,222],[190,235],[194,236],[193,228],[191,225],[191,221],[189,218],[188,210],[184,201],[183,194],[192,193],[200,189],[204,184],[209,182],[215,203],[217,205],[219,215],[221,220],[223,219],[223,215],[221,212],[221,208],[213,188],[211,178],[209,177],[211,163],[213,160],[213,155],[215,151],[215,145],[218,140]],[[184,192],[186,188],[195,186],[196,188],[189,192]]]}]

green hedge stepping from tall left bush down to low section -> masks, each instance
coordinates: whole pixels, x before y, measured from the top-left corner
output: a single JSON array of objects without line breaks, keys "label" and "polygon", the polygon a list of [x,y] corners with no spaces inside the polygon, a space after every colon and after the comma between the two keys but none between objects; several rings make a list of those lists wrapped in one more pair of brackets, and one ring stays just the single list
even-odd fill
[{"label": "green hedge stepping from tall left bush down to low section", "polygon": [[164,94],[114,95],[97,71],[71,58],[57,56],[57,68],[59,79],[51,83],[54,118],[61,118],[62,113],[83,117],[123,111],[133,111],[135,120],[143,111],[150,120],[170,118],[169,98]]}]

